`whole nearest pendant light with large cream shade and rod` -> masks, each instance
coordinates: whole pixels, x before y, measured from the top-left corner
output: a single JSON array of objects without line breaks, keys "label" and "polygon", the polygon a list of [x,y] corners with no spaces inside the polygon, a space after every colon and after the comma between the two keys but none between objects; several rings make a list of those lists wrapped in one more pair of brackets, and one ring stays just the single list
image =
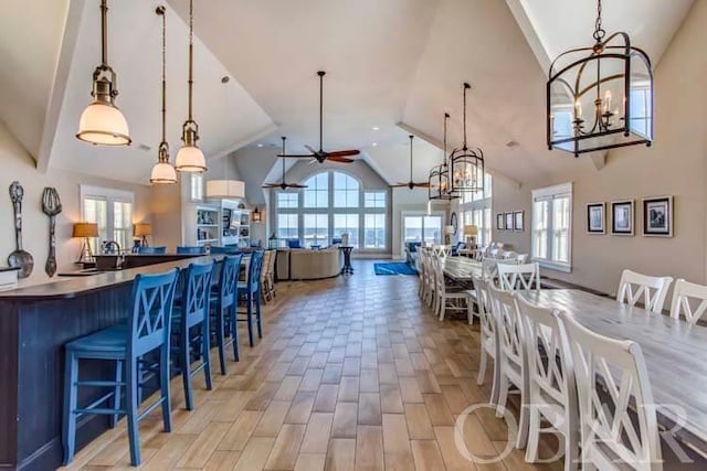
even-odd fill
[{"label": "whole nearest pendant light with large cream shade and rod", "polygon": [[108,65],[108,6],[101,0],[101,65],[93,73],[93,101],[78,120],[76,137],[101,146],[129,146],[130,132],[123,113],[115,106],[117,76]]}]

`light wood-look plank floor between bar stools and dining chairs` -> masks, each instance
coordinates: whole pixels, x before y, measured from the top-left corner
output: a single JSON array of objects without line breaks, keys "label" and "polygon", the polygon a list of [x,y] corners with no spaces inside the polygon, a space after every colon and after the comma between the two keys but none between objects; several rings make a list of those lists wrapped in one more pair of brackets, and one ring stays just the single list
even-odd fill
[{"label": "light wood-look plank floor between bar stools and dining chairs", "polygon": [[[263,340],[251,349],[241,332],[241,362],[231,361],[226,376],[214,366],[213,390],[196,378],[196,410],[183,409],[176,378],[173,431],[162,432],[157,415],[141,421],[141,468],[561,469],[529,465],[519,450],[495,463],[467,461],[455,446],[455,418],[489,395],[490,378],[476,385],[478,325],[439,322],[418,299],[416,277],[374,276],[371,261],[355,268],[347,278],[278,283]],[[463,430],[475,456],[507,447],[504,421],[487,408]],[[125,420],[66,469],[134,469]]]}]

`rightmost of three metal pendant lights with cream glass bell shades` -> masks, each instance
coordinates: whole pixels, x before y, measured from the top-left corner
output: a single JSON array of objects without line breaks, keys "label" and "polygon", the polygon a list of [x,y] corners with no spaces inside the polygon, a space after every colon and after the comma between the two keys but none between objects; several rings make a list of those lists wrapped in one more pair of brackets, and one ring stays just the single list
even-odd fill
[{"label": "rightmost of three metal pendant lights with cream glass bell shades", "polygon": [[192,118],[193,58],[194,58],[194,6],[189,0],[189,117],[181,128],[182,147],[177,152],[176,168],[178,172],[205,172],[207,159],[199,149],[199,125]]}]

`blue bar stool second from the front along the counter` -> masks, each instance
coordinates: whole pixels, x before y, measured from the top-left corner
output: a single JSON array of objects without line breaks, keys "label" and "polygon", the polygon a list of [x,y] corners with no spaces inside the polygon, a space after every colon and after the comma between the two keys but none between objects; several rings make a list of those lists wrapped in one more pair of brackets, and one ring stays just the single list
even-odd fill
[{"label": "blue bar stool second from the front along the counter", "polygon": [[[184,384],[187,410],[193,410],[191,377],[203,370],[207,389],[211,390],[211,360],[209,351],[209,302],[211,298],[211,264],[191,264],[183,274],[181,303],[175,306],[172,336],[178,346],[179,371]],[[192,350],[193,349],[193,350]],[[193,352],[193,355],[192,355]],[[201,364],[191,370],[191,360],[201,357]]]}]

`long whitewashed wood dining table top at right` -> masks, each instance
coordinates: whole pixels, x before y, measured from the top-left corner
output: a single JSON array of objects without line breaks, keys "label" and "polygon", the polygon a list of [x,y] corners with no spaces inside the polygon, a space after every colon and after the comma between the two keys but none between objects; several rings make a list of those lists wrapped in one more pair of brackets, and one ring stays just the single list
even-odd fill
[{"label": "long whitewashed wood dining table top at right", "polygon": [[[641,345],[658,421],[707,451],[707,328],[574,289],[518,291],[567,312],[585,328]],[[677,425],[677,427],[676,427]]]}]

